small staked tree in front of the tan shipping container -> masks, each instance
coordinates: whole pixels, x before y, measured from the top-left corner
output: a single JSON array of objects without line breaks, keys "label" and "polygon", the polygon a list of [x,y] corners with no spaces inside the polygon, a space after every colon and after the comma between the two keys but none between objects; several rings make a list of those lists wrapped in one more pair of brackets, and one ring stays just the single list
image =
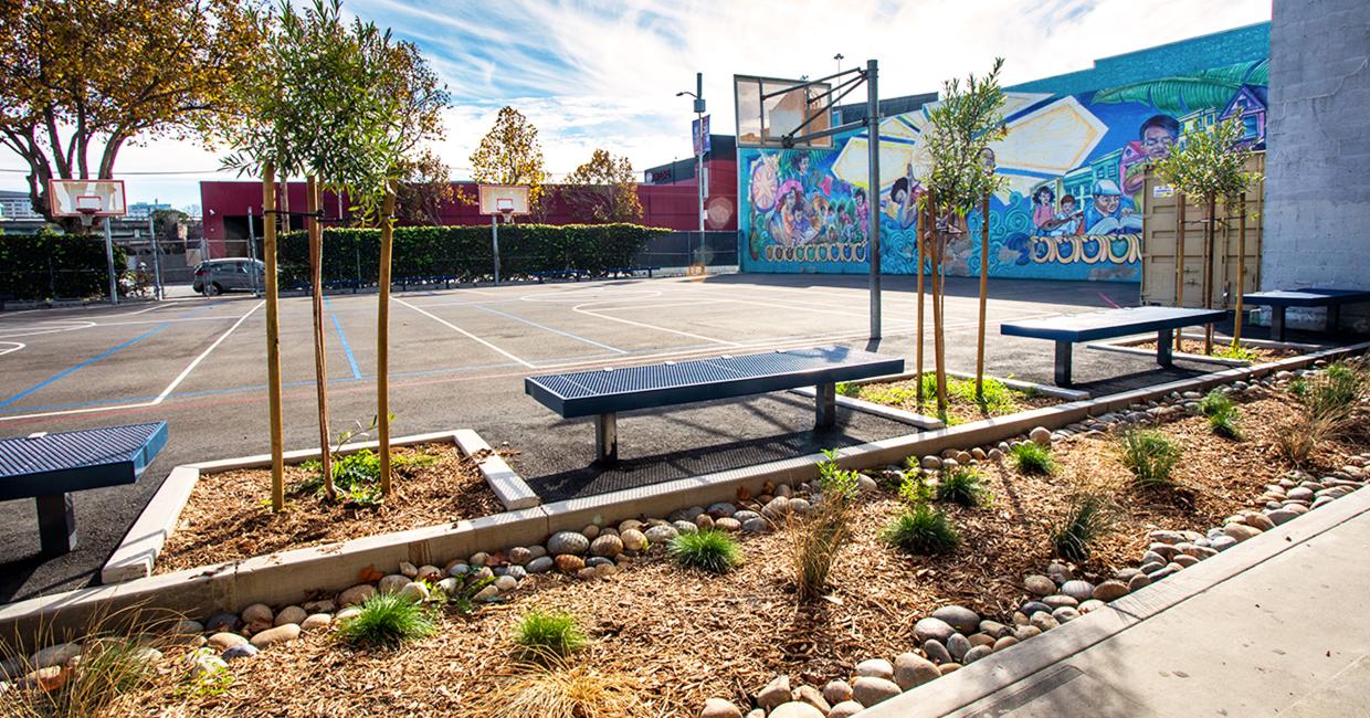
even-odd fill
[{"label": "small staked tree in front of the tan shipping container", "polygon": [[[1186,133],[1180,145],[1170,151],[1170,155],[1156,162],[1156,177],[1162,182],[1173,186],[1182,196],[1197,197],[1203,201],[1207,216],[1204,218],[1204,273],[1203,273],[1203,301],[1204,307],[1212,308],[1212,255],[1214,238],[1217,236],[1217,206],[1222,200],[1226,204],[1237,201],[1247,192],[1247,186],[1259,182],[1258,173],[1247,171],[1251,160],[1251,147],[1241,143],[1243,126],[1237,118],[1219,122],[1208,130]],[[1243,203],[1244,204],[1244,203]],[[1243,207],[1243,212],[1245,208]],[[1245,244],[1245,237],[1243,237]],[[1241,340],[1241,295],[1245,292],[1245,247],[1240,248],[1237,258],[1237,319],[1233,332],[1233,344]],[[1204,352],[1212,354],[1212,325],[1204,333]]]}]

